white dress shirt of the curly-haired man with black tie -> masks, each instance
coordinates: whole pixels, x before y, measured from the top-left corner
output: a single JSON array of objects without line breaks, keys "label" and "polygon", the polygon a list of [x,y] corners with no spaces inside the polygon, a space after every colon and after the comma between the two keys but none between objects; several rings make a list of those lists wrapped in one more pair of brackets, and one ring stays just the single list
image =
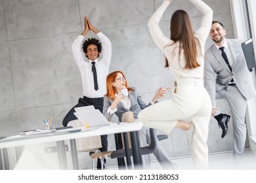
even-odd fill
[{"label": "white dress shirt of the curly-haired man with black tie", "polygon": [[81,79],[83,84],[83,95],[89,98],[103,97],[106,94],[106,76],[109,73],[110,61],[112,57],[112,45],[108,37],[102,32],[96,34],[102,42],[102,52],[100,57],[95,59],[95,67],[98,80],[98,90],[94,88],[92,64],[90,59],[84,59],[83,50],[81,50],[81,44],[85,38],[79,35],[72,44],[72,54],[74,56],[75,63],[81,73]]}]

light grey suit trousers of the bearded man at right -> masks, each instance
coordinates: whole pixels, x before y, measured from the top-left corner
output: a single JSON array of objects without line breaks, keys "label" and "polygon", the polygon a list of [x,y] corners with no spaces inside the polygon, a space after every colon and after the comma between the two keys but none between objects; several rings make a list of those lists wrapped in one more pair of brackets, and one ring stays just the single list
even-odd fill
[{"label": "light grey suit trousers of the bearded man at right", "polygon": [[[236,86],[226,86],[223,90],[216,92],[216,99],[226,99],[231,111],[233,123],[233,158],[234,161],[240,161],[244,152],[246,139],[245,110],[247,99],[239,92]],[[220,114],[219,110],[215,116]]]}]

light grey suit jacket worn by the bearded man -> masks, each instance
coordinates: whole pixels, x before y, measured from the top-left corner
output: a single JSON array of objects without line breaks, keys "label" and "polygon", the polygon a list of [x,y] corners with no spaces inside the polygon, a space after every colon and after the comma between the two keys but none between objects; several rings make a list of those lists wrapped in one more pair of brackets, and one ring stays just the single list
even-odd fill
[{"label": "light grey suit jacket worn by the bearded man", "polygon": [[251,99],[256,94],[245,62],[242,41],[238,39],[226,39],[226,41],[234,59],[232,72],[215,44],[205,52],[204,83],[213,107],[216,107],[215,93],[223,90],[232,78],[245,99]]}]

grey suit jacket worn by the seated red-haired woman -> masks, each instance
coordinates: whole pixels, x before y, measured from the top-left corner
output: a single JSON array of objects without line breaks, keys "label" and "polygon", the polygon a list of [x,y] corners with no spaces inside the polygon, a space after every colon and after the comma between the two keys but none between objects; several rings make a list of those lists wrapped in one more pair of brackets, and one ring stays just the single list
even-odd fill
[{"label": "grey suit jacket worn by the seated red-haired woman", "polygon": [[[133,90],[135,90],[135,88],[133,88]],[[138,118],[138,113],[140,112],[140,110],[151,105],[150,103],[148,105],[146,105],[146,103],[144,103],[144,101],[142,101],[142,98],[140,97],[139,93],[137,93],[136,90],[135,90],[135,92],[129,93],[129,97],[131,98],[131,109],[130,110],[127,110],[125,107],[123,107],[122,103],[119,103],[117,105],[117,111],[114,114],[116,114],[116,116],[118,117],[119,122],[121,122],[123,113],[125,113],[127,111],[132,111],[134,114],[134,117]],[[108,99],[108,97],[105,95],[102,113],[108,119],[108,121],[111,121],[111,118],[114,115],[114,114],[108,114],[108,112],[107,112],[108,108],[110,107],[110,105],[112,105],[112,103],[113,103],[113,101]]]}]

